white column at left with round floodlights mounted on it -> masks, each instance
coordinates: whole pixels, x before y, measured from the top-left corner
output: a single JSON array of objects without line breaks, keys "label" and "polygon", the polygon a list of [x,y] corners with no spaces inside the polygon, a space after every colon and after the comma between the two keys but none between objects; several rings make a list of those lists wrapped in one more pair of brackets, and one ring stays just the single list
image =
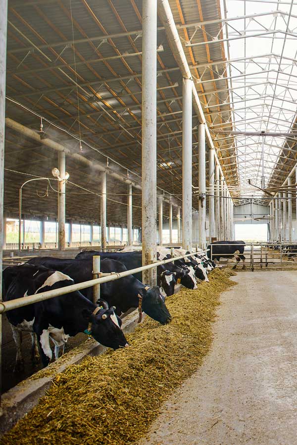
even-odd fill
[{"label": "white column at left with round floodlights mounted on it", "polygon": [[58,153],[58,250],[65,250],[65,218],[66,218],[66,156],[64,151]]}]

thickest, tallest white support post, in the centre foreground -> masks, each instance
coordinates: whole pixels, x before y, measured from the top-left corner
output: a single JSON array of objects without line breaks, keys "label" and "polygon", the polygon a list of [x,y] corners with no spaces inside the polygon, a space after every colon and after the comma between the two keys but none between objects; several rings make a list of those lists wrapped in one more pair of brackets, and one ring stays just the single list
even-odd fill
[{"label": "thickest, tallest white support post, in the centre foreground", "polygon": [[[156,257],[157,158],[157,2],[143,0],[142,35],[142,261],[147,265]],[[143,282],[156,285],[156,268],[143,272]]]}]

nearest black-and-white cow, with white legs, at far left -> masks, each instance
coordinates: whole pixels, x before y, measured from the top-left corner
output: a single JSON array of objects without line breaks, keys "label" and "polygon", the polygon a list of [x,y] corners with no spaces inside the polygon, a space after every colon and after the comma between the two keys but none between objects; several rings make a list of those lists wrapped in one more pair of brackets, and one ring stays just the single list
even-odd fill
[{"label": "nearest black-and-white cow, with white legs, at far left", "polygon": [[[72,284],[74,282],[68,275],[42,265],[12,266],[3,271],[3,300],[9,301]],[[68,337],[79,332],[91,334],[101,345],[113,349],[129,346],[114,308],[94,304],[78,291],[12,309],[7,312],[7,318],[13,326],[16,340],[16,368],[22,365],[21,331],[36,334],[44,366],[52,358],[49,339],[55,345],[55,355],[60,347],[63,348]]]}]

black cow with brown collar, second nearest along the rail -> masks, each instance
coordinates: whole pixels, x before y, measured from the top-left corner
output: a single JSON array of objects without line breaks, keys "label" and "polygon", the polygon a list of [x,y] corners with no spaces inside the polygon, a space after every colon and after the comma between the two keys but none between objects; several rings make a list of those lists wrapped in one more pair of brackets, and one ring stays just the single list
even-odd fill
[{"label": "black cow with brown collar, second nearest along the rail", "polygon": [[[44,262],[52,269],[60,270],[69,275],[75,283],[82,283],[93,278],[92,257],[81,260],[37,257],[29,261],[30,263],[36,261],[39,264]],[[119,261],[104,258],[100,261],[100,270],[103,273],[125,272],[127,268]],[[93,299],[93,288],[82,289],[81,292],[90,300]],[[119,315],[131,307],[138,307],[139,299],[142,299],[142,309],[149,317],[163,325],[171,321],[170,313],[160,295],[160,289],[157,286],[149,288],[133,275],[102,283],[100,285],[100,296],[110,305],[116,306]]]}]

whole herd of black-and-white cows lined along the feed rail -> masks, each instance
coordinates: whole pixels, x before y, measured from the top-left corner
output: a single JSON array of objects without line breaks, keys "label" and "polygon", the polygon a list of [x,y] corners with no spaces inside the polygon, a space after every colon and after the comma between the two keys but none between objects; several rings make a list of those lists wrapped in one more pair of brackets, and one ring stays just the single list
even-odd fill
[{"label": "whole herd of black-and-white cows lined along the feed rail", "polygon": [[[237,262],[245,259],[242,241],[217,242],[212,244],[213,258],[236,257]],[[209,248],[209,247],[208,247]],[[170,248],[158,247],[157,259],[171,258]],[[174,256],[190,252],[175,248]],[[100,255],[100,270],[103,273],[123,272],[142,265],[141,247],[126,247],[119,252],[86,250],[75,259],[35,257],[26,263],[9,266],[3,270],[2,296],[4,301],[40,292],[59,289],[93,278],[93,256]],[[23,367],[21,350],[22,332],[30,332],[32,338],[32,360],[41,355],[43,366],[52,358],[49,340],[54,344],[55,358],[64,350],[69,337],[80,332],[92,335],[101,345],[117,349],[127,347],[128,342],[121,330],[120,316],[130,308],[139,307],[149,317],[162,325],[171,321],[165,297],[174,293],[177,283],[188,289],[197,289],[197,283],[209,281],[208,273],[215,262],[203,253],[193,253],[183,259],[157,266],[157,286],[142,283],[142,274],[136,273],[100,285],[100,300],[93,302],[93,288],[71,292],[59,297],[36,302],[8,311],[7,318],[12,327],[16,344],[15,370]],[[235,266],[236,267],[236,266]]]}]

